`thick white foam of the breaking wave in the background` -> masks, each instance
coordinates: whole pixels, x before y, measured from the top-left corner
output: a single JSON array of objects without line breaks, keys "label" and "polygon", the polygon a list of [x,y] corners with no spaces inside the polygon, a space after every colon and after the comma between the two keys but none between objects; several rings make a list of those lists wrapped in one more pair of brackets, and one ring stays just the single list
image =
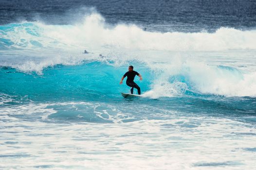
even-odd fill
[{"label": "thick white foam of the breaking wave in the background", "polygon": [[224,51],[256,50],[256,30],[219,28],[215,33],[146,32],[136,25],[108,26],[99,14],[85,17],[83,23],[68,26],[40,26],[44,36],[67,45],[98,49],[104,46],[137,50]]}]

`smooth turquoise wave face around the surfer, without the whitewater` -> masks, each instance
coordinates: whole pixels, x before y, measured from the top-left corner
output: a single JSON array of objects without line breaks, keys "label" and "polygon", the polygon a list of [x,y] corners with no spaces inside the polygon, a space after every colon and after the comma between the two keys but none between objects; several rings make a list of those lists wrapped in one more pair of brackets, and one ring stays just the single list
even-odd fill
[{"label": "smooth turquoise wave face around the surfer, without the whitewater", "polygon": [[[136,65],[134,65],[136,67]],[[139,66],[138,66],[139,67]],[[42,75],[36,72],[24,73],[15,68],[1,67],[0,91],[10,95],[28,95],[33,100],[91,99],[119,96],[129,87],[119,85],[126,67],[115,68],[101,62],[84,63],[76,66],[55,65],[44,68]],[[145,79],[140,82],[143,91],[149,90],[152,75],[146,67],[140,67]]]}]

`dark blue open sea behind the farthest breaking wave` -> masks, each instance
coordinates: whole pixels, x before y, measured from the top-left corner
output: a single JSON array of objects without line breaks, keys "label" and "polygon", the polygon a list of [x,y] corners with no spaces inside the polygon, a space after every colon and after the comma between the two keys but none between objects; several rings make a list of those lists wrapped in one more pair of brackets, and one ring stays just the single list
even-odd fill
[{"label": "dark blue open sea behind the farthest breaking wave", "polygon": [[256,26],[255,0],[1,0],[0,24],[22,20],[72,24],[92,11],[108,23],[135,23],[148,31],[250,30]]}]

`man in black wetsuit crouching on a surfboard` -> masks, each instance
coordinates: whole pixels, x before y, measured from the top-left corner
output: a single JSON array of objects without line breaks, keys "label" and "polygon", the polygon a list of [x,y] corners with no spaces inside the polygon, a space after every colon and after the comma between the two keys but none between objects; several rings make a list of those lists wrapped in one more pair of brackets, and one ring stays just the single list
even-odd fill
[{"label": "man in black wetsuit crouching on a surfboard", "polygon": [[137,71],[133,71],[133,66],[129,66],[128,71],[121,78],[120,85],[123,84],[123,80],[127,76],[126,84],[131,87],[130,93],[133,94],[133,88],[136,88],[138,90],[138,94],[140,95],[141,88],[133,81],[136,75],[140,77],[140,80],[142,80],[142,76]]}]

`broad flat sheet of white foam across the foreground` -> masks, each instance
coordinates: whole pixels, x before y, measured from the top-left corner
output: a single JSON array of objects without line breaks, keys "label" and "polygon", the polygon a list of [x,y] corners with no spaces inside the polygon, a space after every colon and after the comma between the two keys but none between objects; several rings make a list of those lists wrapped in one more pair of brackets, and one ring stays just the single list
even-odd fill
[{"label": "broad flat sheet of white foam across the foreground", "polygon": [[[6,156],[0,159],[3,169],[204,170],[223,169],[218,166],[222,162],[231,163],[225,169],[256,165],[255,153],[245,150],[255,148],[255,136],[246,135],[255,134],[254,127],[230,119],[172,115],[130,123],[2,125],[8,127],[0,137],[0,152]],[[196,166],[202,163],[213,165]]]}]

